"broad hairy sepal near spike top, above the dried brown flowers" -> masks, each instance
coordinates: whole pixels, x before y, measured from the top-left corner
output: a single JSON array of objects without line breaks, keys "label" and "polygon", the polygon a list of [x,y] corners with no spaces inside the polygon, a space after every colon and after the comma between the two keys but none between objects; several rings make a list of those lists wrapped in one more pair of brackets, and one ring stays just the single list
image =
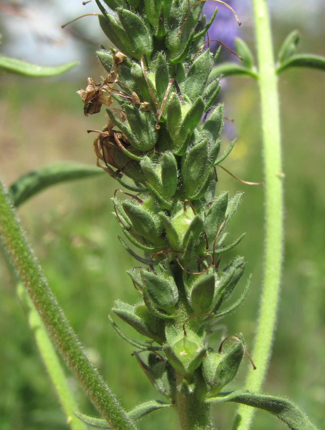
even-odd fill
[{"label": "broad hairy sepal near spike top, above the dried brown flowers", "polygon": [[127,9],[117,9],[117,15],[128,39],[127,46],[132,52],[132,56],[140,61],[142,55],[145,54],[150,59],[153,40],[148,26],[140,16]]}]

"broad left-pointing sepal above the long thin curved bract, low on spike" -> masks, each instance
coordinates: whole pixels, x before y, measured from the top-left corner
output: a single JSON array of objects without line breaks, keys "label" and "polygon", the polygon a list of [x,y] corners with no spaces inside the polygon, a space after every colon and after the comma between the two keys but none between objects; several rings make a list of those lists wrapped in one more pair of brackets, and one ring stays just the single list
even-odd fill
[{"label": "broad left-pointing sepal above the long thin curved bract, low on spike", "polygon": [[147,318],[146,321],[144,318],[135,313],[135,309],[135,306],[124,303],[120,300],[115,301],[112,308],[113,312],[117,316],[123,319],[123,321],[127,322],[129,326],[133,327],[141,335],[147,336],[148,338],[157,340],[158,343],[161,343],[162,339],[152,329],[152,327],[157,324],[155,322],[155,317],[150,316],[150,318]]}]

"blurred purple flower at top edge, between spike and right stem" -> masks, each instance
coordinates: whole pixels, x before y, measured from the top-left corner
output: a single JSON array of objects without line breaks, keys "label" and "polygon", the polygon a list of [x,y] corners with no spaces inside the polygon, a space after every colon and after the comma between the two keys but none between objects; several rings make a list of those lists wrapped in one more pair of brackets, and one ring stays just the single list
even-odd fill
[{"label": "blurred purple flower at top edge, between spike and right stem", "polygon": [[[241,12],[244,12],[245,2],[242,0],[226,0],[225,2],[236,11],[240,18]],[[234,39],[239,36],[239,25],[231,9],[221,3],[210,0],[205,2],[203,13],[206,15],[206,20],[208,21],[216,7],[218,7],[218,13],[208,31],[209,39],[221,40],[230,49],[234,49]],[[210,51],[215,52],[219,46],[220,43],[218,42],[210,42]],[[231,55],[226,49],[223,49],[222,53],[223,57],[228,56],[228,54]]]}]

